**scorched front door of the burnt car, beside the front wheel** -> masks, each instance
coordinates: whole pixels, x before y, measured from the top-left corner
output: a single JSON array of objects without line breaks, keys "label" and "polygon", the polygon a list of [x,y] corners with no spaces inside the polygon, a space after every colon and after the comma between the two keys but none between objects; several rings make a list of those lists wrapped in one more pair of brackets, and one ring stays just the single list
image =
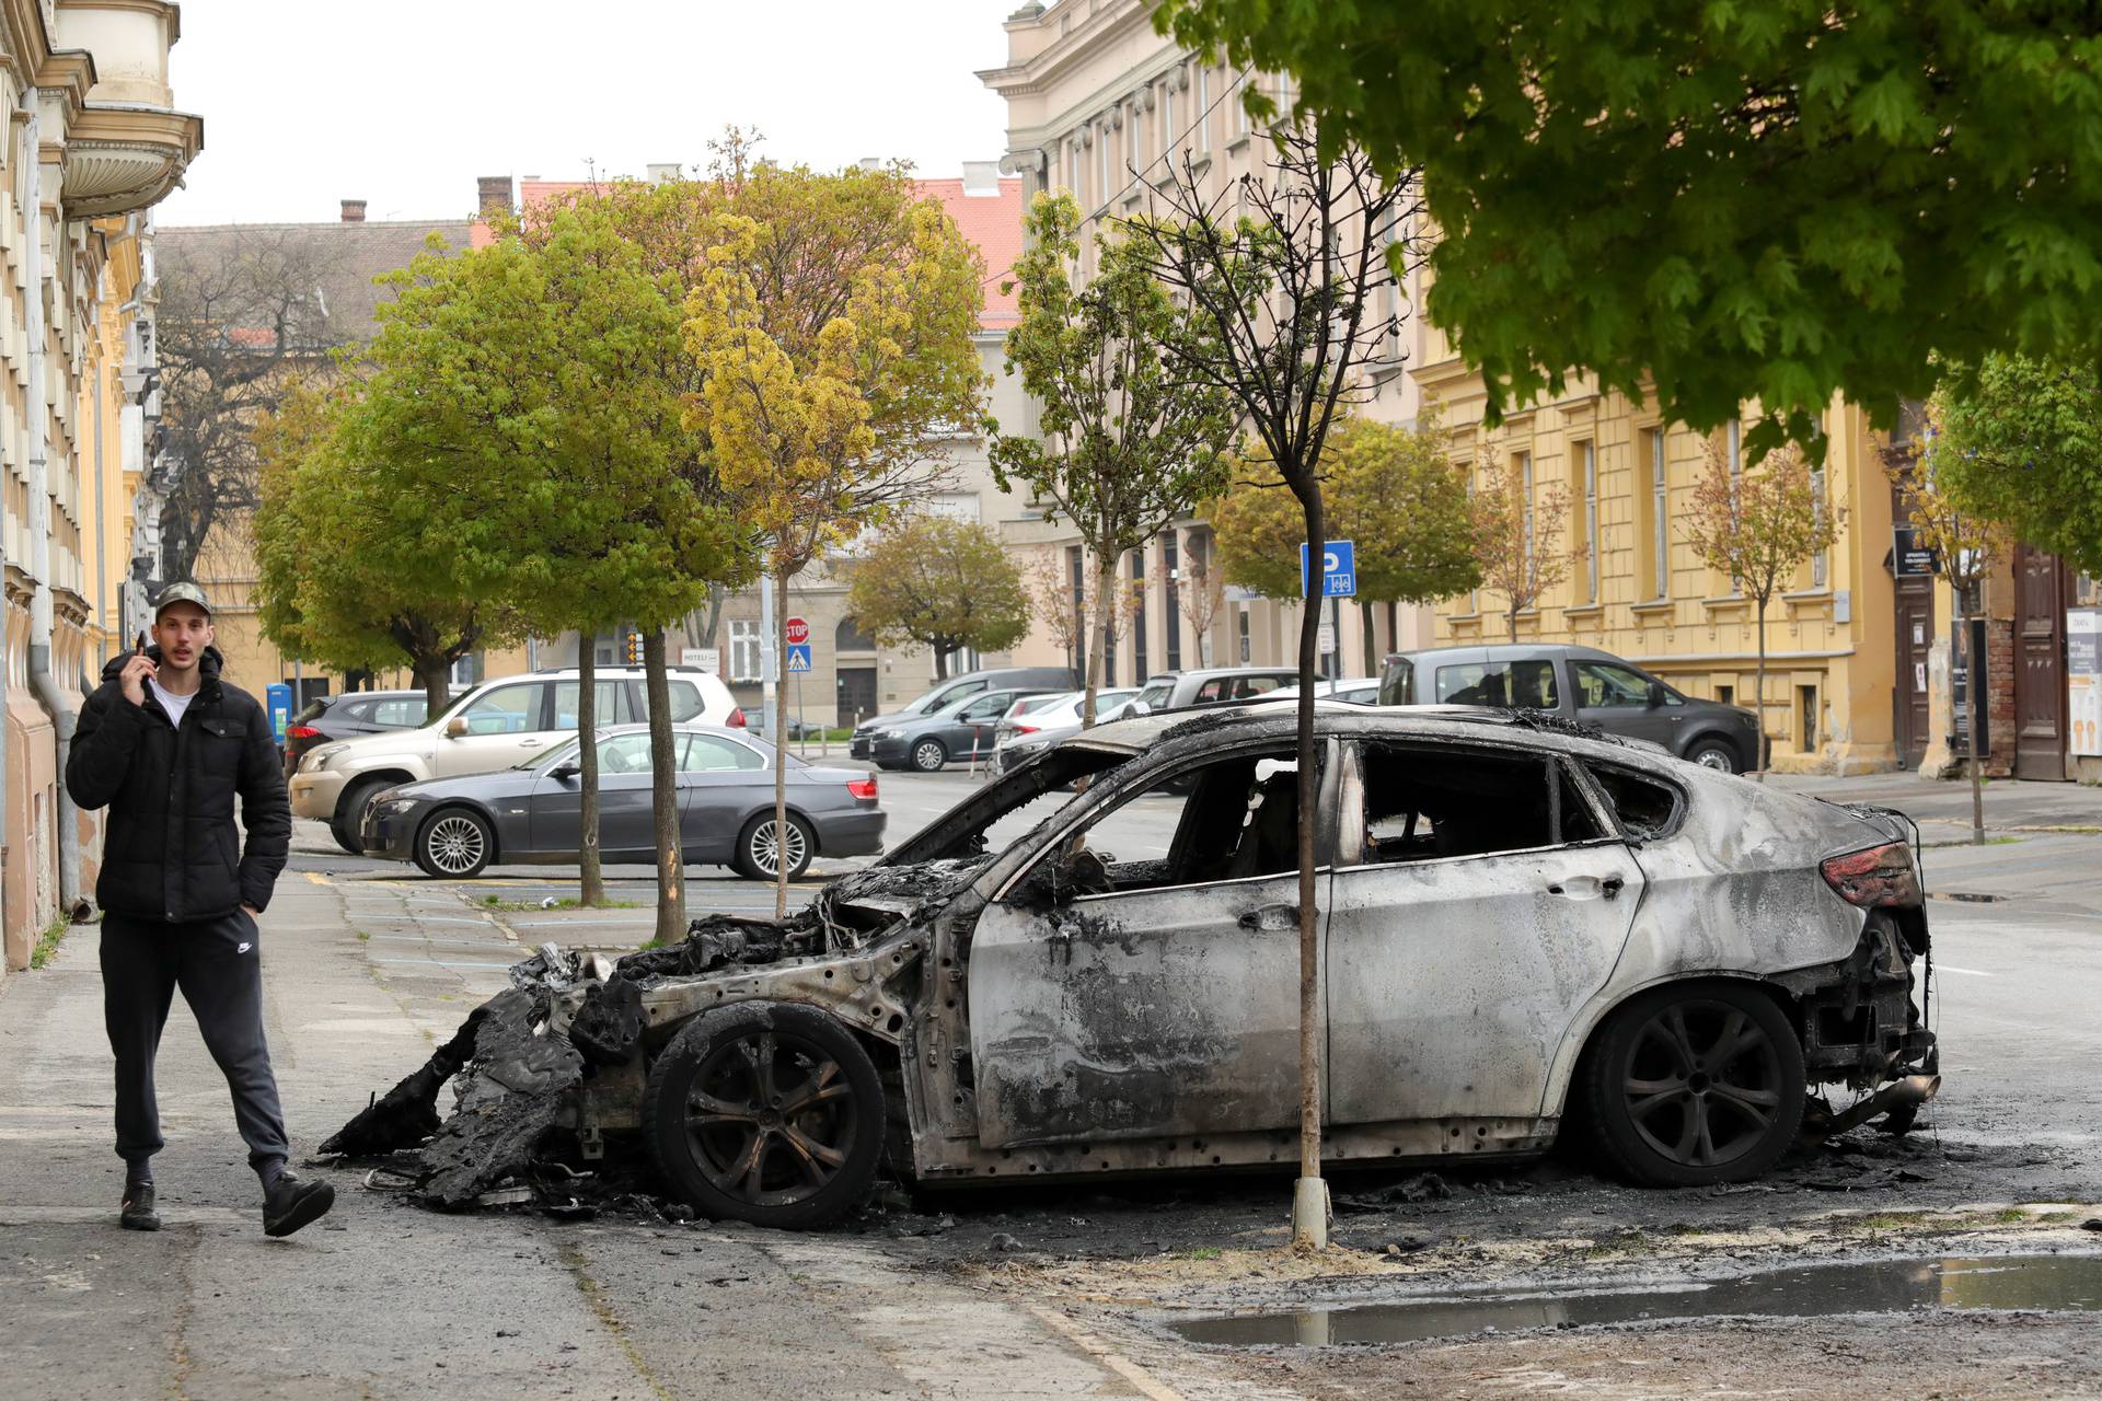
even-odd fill
[{"label": "scorched front door of the burnt car, beside the front wheel", "polygon": [[[1316,800],[1316,907],[1326,918],[1339,807],[1339,739],[1320,735],[1318,744],[1322,777]],[[982,1147],[1282,1132],[1297,1124],[1297,870],[1080,895],[1064,903],[1047,903],[1028,888],[1028,876],[1040,861],[1057,859],[1055,851],[1072,834],[1091,828],[1125,800],[1236,754],[1289,754],[1293,748],[1291,735],[1263,735],[1177,762],[1146,765],[1141,773],[1104,786],[1099,800],[1080,804],[1049,828],[1032,855],[1001,878],[977,916],[965,968],[967,1044],[975,1080],[971,1128]],[[1146,912],[1148,905],[1173,907],[1175,901],[1200,903],[1196,914],[1202,930],[1181,943],[1173,941],[1181,930],[1167,922],[1116,918],[1120,905]],[[1204,975],[1217,970],[1213,949],[1242,949],[1249,956],[1217,960],[1230,966],[1204,985]],[[1062,1040],[1051,1010],[1070,1004],[1072,981],[1129,979],[1133,964],[1141,977],[1167,979],[1169,964],[1181,975],[1173,1008],[1167,996],[1148,1000],[1167,1017],[1162,1025],[1148,1027],[1165,1044],[1125,1046],[1080,1036]],[[1024,981],[1030,977],[1043,979],[1034,991]],[[1278,1025],[1257,1025],[1251,1038],[1251,1006]],[[1015,1069],[1007,1069],[1009,1063]],[[1059,1067],[1055,1078],[1032,1073],[1053,1065]],[[1211,1075],[1200,1080],[1207,1069]],[[1106,1109],[1116,1111],[1106,1115]]]}]

